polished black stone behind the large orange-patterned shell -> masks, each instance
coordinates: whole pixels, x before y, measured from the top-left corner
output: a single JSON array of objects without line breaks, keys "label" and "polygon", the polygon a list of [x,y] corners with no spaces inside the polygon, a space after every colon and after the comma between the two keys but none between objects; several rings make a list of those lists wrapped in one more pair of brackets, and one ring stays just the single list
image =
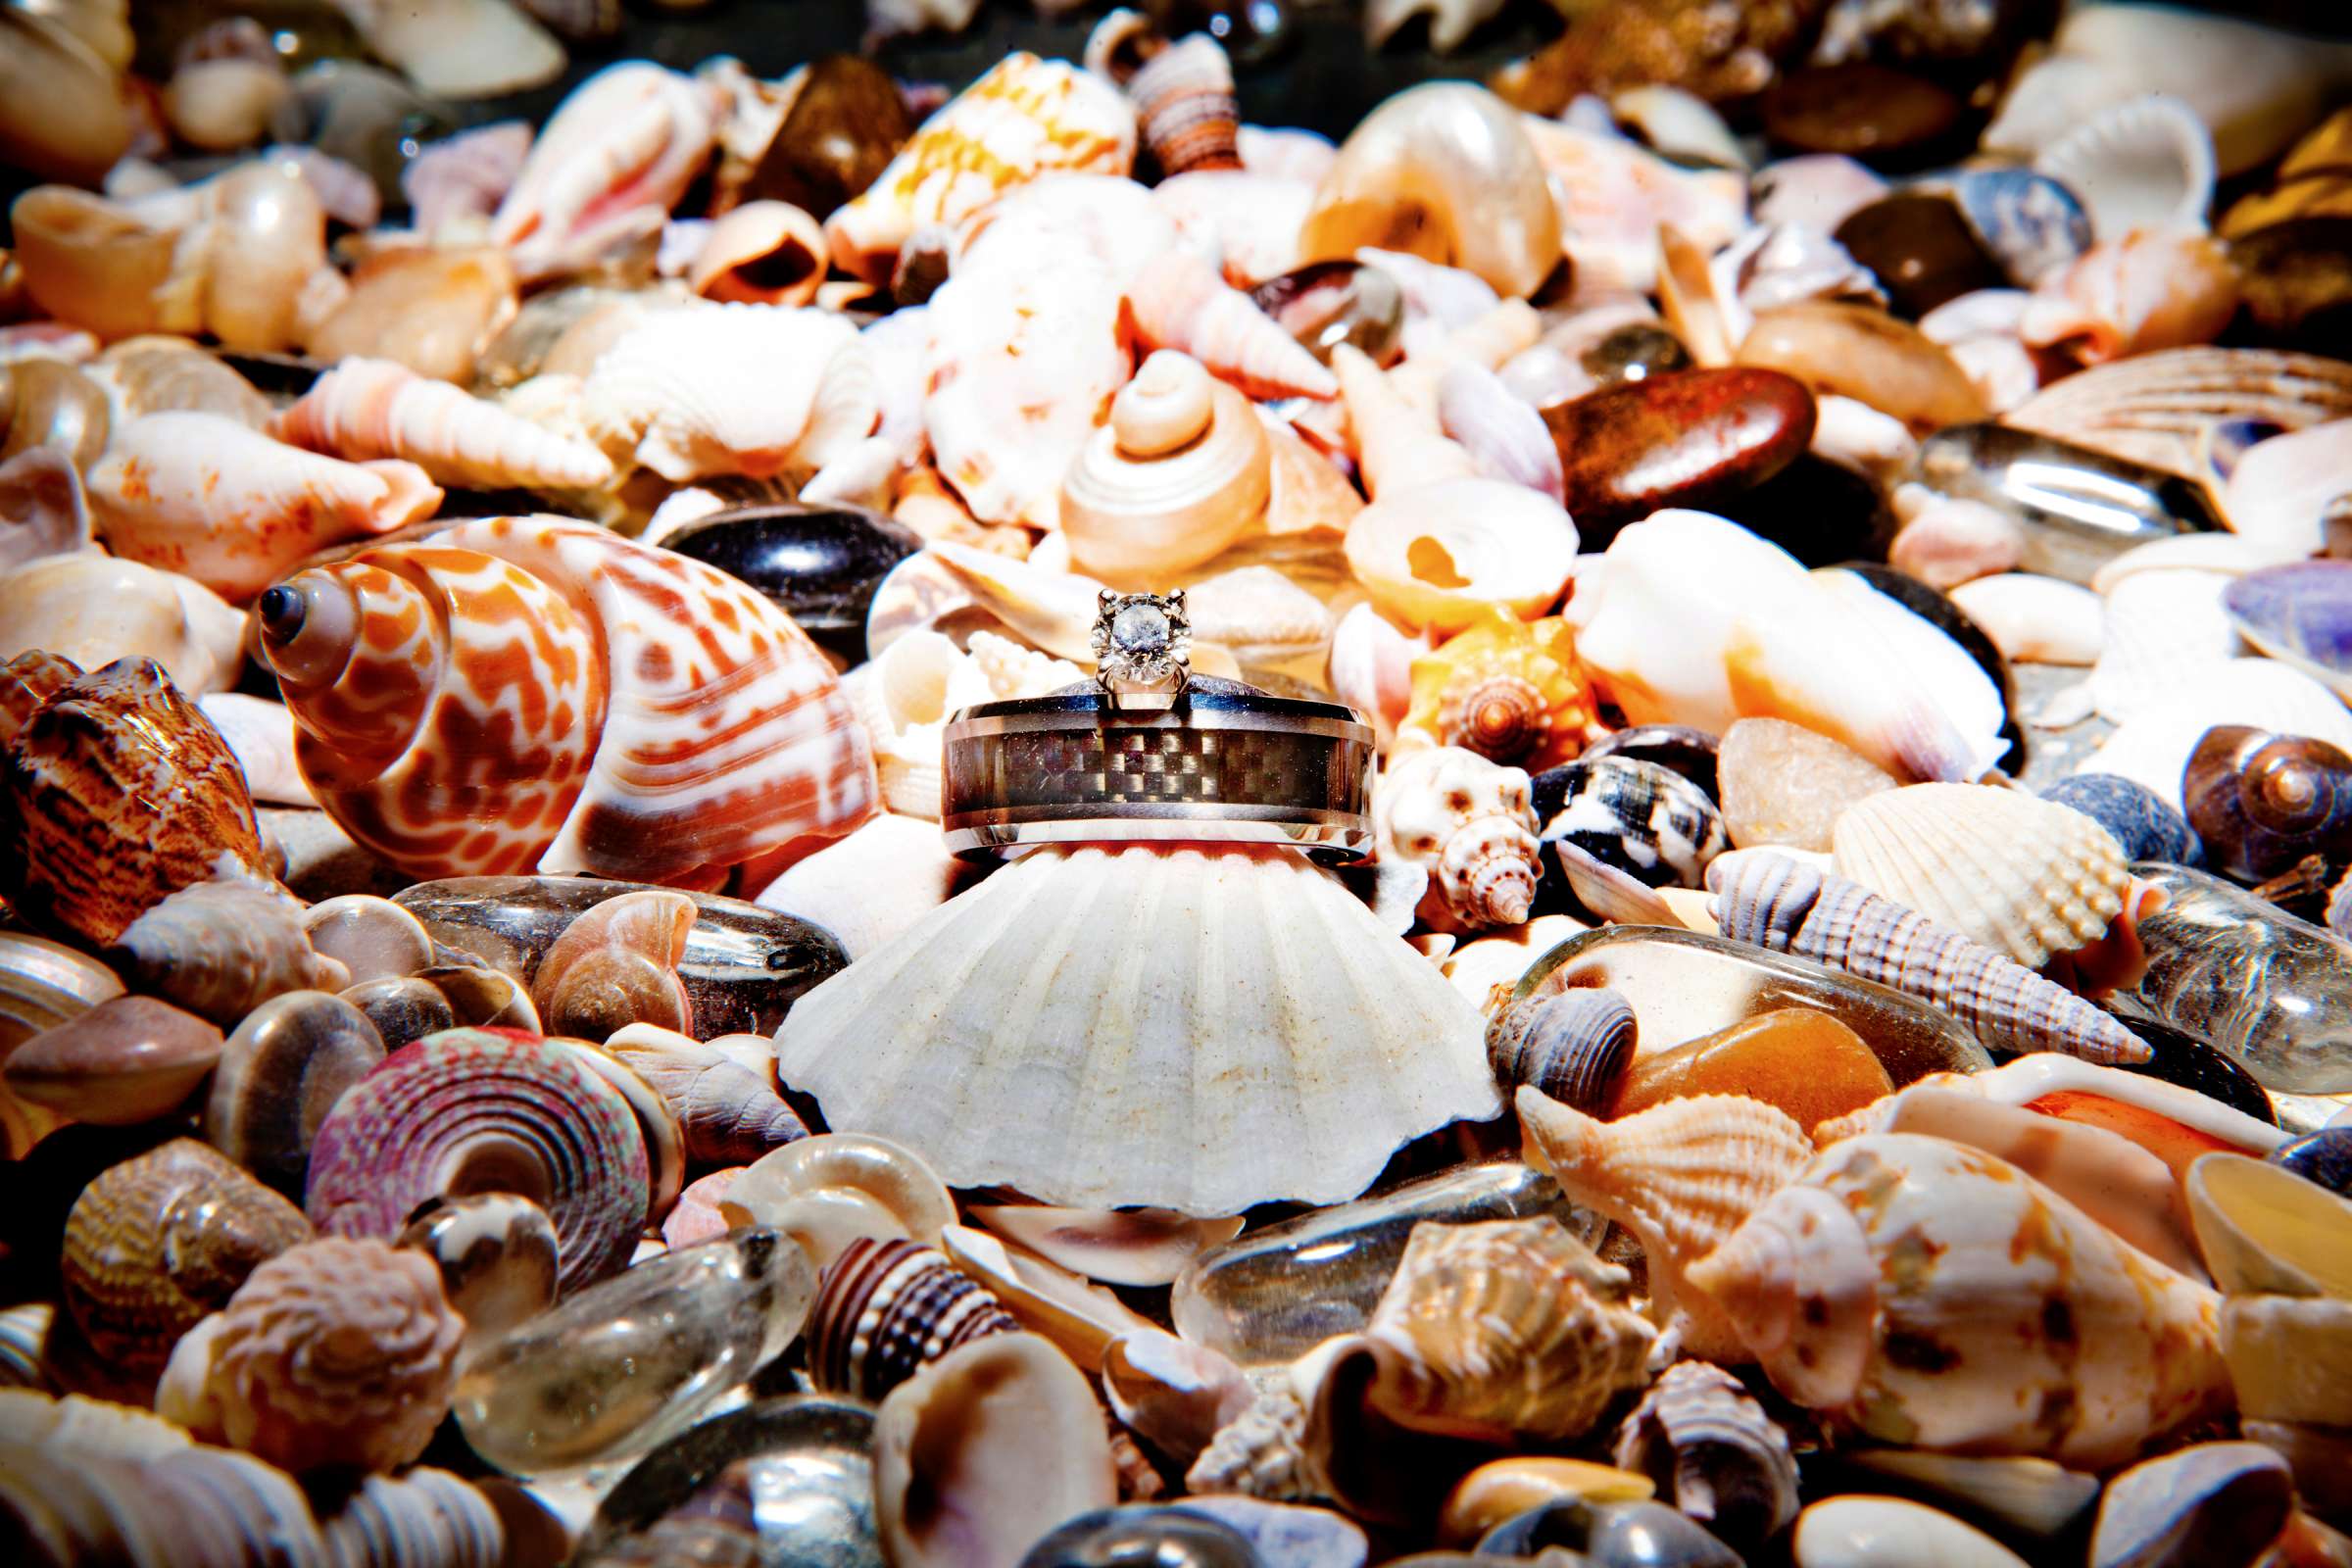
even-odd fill
[{"label": "polished black stone behind the large orange-patterned shell", "polygon": [[809,637],[844,658],[866,658],[866,609],[889,569],[922,550],[922,538],[858,505],[746,505],[713,512],[661,538],[743,578]]}]

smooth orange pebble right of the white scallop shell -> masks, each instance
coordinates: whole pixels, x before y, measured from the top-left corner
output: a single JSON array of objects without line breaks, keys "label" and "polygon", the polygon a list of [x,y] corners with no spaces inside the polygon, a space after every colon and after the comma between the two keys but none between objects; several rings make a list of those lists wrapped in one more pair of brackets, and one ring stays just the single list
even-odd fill
[{"label": "smooth orange pebble right of the white scallop shell", "polygon": [[1893,1091],[1896,1081],[1860,1034],[1830,1013],[1783,1006],[1635,1058],[1618,1079],[1609,1114],[1630,1117],[1689,1095],[1748,1095],[1813,1128]]}]

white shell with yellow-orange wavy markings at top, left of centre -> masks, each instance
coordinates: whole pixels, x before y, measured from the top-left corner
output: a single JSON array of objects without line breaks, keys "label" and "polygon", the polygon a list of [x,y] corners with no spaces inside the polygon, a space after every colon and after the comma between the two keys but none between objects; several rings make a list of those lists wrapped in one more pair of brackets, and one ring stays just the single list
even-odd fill
[{"label": "white shell with yellow-orange wavy markings at top, left of centre", "polygon": [[1009,54],[924,120],[882,176],[826,219],[826,237],[842,270],[882,284],[917,228],[953,228],[1054,169],[1127,174],[1134,160],[1136,110],[1108,80]]}]

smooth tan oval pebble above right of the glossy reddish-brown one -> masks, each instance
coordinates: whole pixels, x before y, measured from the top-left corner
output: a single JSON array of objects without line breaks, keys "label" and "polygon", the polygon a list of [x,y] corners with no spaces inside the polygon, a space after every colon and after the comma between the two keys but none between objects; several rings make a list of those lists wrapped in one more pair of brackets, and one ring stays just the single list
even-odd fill
[{"label": "smooth tan oval pebble above right of the glossy reddish-brown one", "polygon": [[1943,346],[1870,306],[1816,299],[1764,310],[1738,360],[1853,397],[1919,435],[1987,414],[1983,393]]}]

